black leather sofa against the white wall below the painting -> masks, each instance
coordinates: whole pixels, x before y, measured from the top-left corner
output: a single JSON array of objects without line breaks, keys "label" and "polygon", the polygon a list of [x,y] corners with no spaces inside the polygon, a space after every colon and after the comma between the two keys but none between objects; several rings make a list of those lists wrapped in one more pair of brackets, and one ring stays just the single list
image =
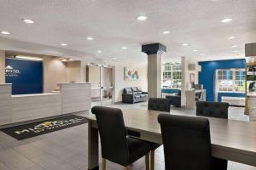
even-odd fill
[{"label": "black leather sofa against the white wall below the painting", "polygon": [[147,101],[148,95],[143,93],[141,88],[124,88],[122,102],[134,104],[137,102]]}]

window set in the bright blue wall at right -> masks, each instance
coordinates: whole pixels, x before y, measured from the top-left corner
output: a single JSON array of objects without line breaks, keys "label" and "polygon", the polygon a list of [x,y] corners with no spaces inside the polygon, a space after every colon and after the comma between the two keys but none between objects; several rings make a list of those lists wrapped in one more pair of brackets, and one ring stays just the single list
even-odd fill
[{"label": "window set in the bright blue wall at right", "polygon": [[245,92],[245,70],[217,70],[218,92]]}]

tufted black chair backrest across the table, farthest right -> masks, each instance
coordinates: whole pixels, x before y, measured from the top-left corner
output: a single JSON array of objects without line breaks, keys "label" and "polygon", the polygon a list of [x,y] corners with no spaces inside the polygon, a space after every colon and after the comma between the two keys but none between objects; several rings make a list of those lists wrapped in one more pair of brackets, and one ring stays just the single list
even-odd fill
[{"label": "tufted black chair backrest across the table, farthest right", "polygon": [[224,102],[196,102],[197,116],[212,116],[227,119],[229,115],[229,104]]}]

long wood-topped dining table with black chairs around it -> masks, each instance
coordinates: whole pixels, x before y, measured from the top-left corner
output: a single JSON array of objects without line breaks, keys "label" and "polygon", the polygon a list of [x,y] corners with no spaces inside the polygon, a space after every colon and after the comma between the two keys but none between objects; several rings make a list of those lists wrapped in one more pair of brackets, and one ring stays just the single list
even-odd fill
[{"label": "long wood-topped dining table with black chairs around it", "polygon": [[[157,144],[162,144],[158,115],[176,115],[172,111],[169,113],[145,109],[125,109],[122,112],[128,135]],[[195,116],[186,114],[185,111],[178,115]],[[99,134],[96,116],[90,114],[86,118],[88,120],[88,169],[94,170],[99,168]],[[210,122],[212,156],[256,167],[256,122],[205,118]]]}]

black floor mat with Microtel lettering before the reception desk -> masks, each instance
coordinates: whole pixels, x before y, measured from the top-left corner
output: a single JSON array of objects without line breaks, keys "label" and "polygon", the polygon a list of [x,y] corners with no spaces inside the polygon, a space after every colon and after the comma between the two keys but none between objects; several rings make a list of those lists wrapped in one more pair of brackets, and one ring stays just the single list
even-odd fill
[{"label": "black floor mat with Microtel lettering before the reception desk", "polygon": [[9,134],[15,139],[23,140],[45,133],[55,132],[68,127],[74,127],[87,122],[83,116],[63,116],[58,118],[51,118],[49,120],[32,122],[29,124],[19,125],[16,127],[6,127],[1,129],[3,133]]}]

